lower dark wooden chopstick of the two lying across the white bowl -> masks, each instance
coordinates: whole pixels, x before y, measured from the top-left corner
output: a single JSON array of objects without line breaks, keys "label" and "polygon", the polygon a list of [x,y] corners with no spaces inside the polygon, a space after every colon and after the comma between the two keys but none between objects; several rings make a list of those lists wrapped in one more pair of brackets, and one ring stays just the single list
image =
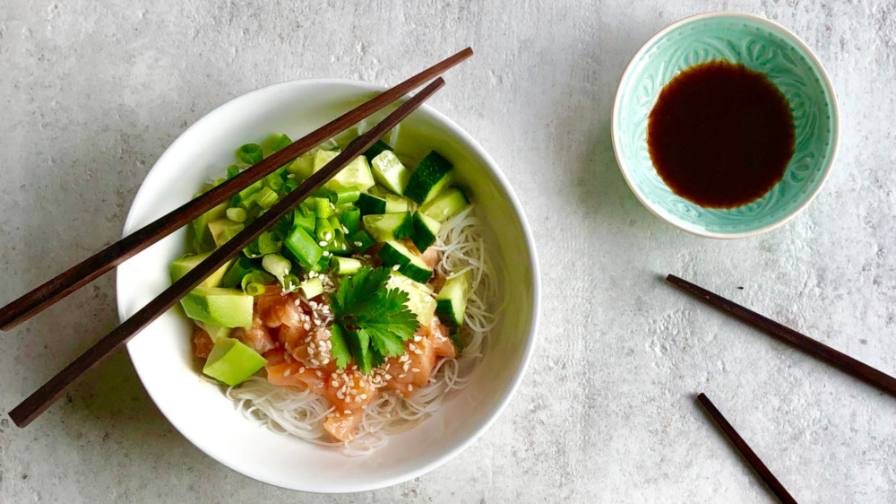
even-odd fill
[{"label": "lower dark wooden chopstick of the two lying across the white bowl", "polygon": [[294,191],[287,196],[283,196],[277,204],[263,213],[258,219],[246,226],[246,229],[240,231],[237,236],[230,239],[227,243],[211,253],[202,263],[183,278],[174,282],[173,285],[162,291],[158,297],[151,300],[145,307],[141,308],[134,316],[125,320],[125,322],[116,327],[111,333],[106,335],[98,343],[94,344],[87,352],[75,359],[65,369],[50,378],[49,381],[40,387],[36,392],[31,394],[22,404],[14,407],[9,416],[13,422],[19,427],[25,427],[34,420],[40,413],[56,399],[63,394],[65,387],[73,383],[75,379],[80,377],[85,371],[96,366],[99,362],[104,361],[112,352],[134,335],[139,333],[144,327],[158,318],[162,313],[171,308],[184,295],[192,291],[212,272],[217,271],[230,257],[236,256],[244,248],[248,247],[254,239],[258,238],[264,230],[267,230],[274,222],[280,221],[289,212],[292,211],[306,197],[314,194],[323,184],[330,180],[340,169],[345,167],[349,162],[358,157],[361,153],[369,149],[377,140],[385,135],[393,127],[411,112],[417,109],[426,99],[432,96],[444,86],[444,80],[441,77],[435,79],[422,91],[418,92],[413,98],[401,104],[392,114],[383,119],[381,123],[374,126],[365,135],[358,137],[358,140],[346,147],[345,151],[340,152],[332,161],[326,164],[323,169],[315,172],[311,178],[308,178]]}]

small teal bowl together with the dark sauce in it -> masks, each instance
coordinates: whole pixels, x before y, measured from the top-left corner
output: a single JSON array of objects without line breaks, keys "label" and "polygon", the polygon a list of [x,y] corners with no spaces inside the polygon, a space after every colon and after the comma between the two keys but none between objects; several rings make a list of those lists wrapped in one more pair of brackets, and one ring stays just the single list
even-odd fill
[{"label": "small teal bowl together with the dark sauce in it", "polygon": [[818,193],[838,139],[822,65],[777,24],[737,13],[685,19],[623,74],[613,144],[652,213],[711,238],[793,217]]}]

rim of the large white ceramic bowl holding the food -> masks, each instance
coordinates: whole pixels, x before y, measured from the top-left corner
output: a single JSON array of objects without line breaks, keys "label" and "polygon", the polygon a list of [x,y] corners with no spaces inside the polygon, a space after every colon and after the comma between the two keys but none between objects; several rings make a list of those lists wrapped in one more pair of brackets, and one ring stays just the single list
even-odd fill
[{"label": "rim of the large white ceramic bowl holding the food", "polygon": [[[280,83],[273,83],[267,86],[263,86],[261,88],[254,89],[252,91],[247,91],[240,95],[237,95],[230,100],[221,103],[219,106],[211,109],[207,113],[205,113],[202,117],[196,120],[192,125],[187,127],[184,131],[182,131],[177,138],[168,145],[168,148],[165,149],[164,152],[159,156],[159,159],[152,165],[152,168],[147,172],[146,177],[143,178],[140,187],[137,190],[136,196],[134,196],[134,200],[131,203],[131,207],[128,210],[127,217],[125,218],[125,225],[123,230],[123,236],[127,236],[131,232],[134,231],[134,220],[137,218],[137,214],[135,213],[138,206],[137,202],[141,200],[141,198],[149,197],[143,194],[143,188],[146,187],[146,181],[153,177],[153,173],[156,172],[156,169],[159,168],[160,165],[164,164],[167,161],[168,155],[172,155],[171,152],[177,150],[177,146],[180,143],[185,142],[185,135],[193,130],[196,127],[202,126],[208,122],[211,122],[216,119],[216,116],[220,113],[222,109],[227,109],[228,107],[233,107],[234,103],[238,100],[246,100],[251,96],[256,96],[263,93],[269,93],[271,91],[279,90],[280,88],[287,88],[290,86],[303,86],[303,85],[349,85],[354,88],[353,91],[359,92],[382,92],[387,88],[385,86],[365,83],[362,81],[355,81],[351,79],[336,79],[336,78],[307,78],[307,79],[294,79],[289,81],[283,81]],[[406,100],[408,97],[403,97],[401,100]],[[466,438],[462,439],[460,442],[453,445],[452,448],[448,449],[444,453],[439,456],[431,457],[425,464],[419,465],[415,467],[413,470],[410,470],[403,474],[396,474],[389,478],[384,478],[382,480],[377,480],[375,482],[371,482],[369,484],[343,484],[339,486],[339,488],[334,487],[333,485],[327,487],[313,488],[298,488],[297,486],[284,486],[283,482],[275,481],[272,478],[267,478],[263,474],[263,472],[255,472],[253,474],[247,474],[243,470],[237,469],[234,465],[230,463],[229,460],[224,460],[221,457],[217,456],[217,454],[212,455],[208,450],[205,449],[201,444],[197,443],[193,436],[191,436],[188,430],[183,429],[185,427],[179,421],[176,421],[169,412],[163,409],[153,398],[153,394],[151,392],[151,387],[147,386],[147,383],[143,381],[143,375],[138,366],[134,365],[133,355],[131,354],[130,344],[125,345],[125,348],[128,352],[128,358],[131,359],[132,365],[134,366],[134,371],[137,373],[137,377],[140,378],[142,387],[146,391],[147,395],[152,399],[153,404],[159,409],[159,412],[165,417],[165,419],[178,431],[182,436],[185,437],[190,443],[194,445],[194,447],[199,448],[202,453],[206,456],[210,456],[212,459],[219,462],[221,465],[228,467],[229,469],[243,474],[247,477],[250,477],[256,481],[263,482],[266,484],[270,484],[271,486],[276,486],[292,491],[306,491],[310,493],[326,493],[326,494],[336,494],[336,493],[351,493],[351,492],[359,492],[359,491],[374,491],[382,488],[386,488],[389,486],[397,485],[402,482],[407,482],[423,474],[429,473],[430,471],[435,470],[437,467],[444,465],[446,462],[451,460],[454,456],[459,455],[463,450],[469,448],[470,445],[473,444],[479,437],[481,437],[486,430],[488,430],[497,420],[497,418],[504,412],[504,408],[506,408],[507,404],[513,399],[513,395],[516,394],[517,390],[521,386],[522,378],[525,376],[526,370],[529,368],[530,361],[532,358],[532,354],[534,353],[535,344],[538,340],[538,326],[541,319],[541,272],[538,265],[538,253],[535,245],[535,239],[532,235],[532,230],[530,228],[530,224],[528,219],[526,218],[526,213],[523,211],[522,204],[520,203],[519,198],[513,191],[513,187],[510,185],[510,181],[504,175],[504,172],[498,167],[495,160],[491,157],[491,155],[486,152],[486,150],[469,134],[466,130],[461,128],[457,123],[452,121],[450,118],[446,117],[441,112],[435,110],[431,106],[424,103],[420,109],[424,110],[426,114],[431,115],[435,122],[441,123],[448,130],[452,132],[453,135],[457,135],[461,142],[465,144],[466,148],[469,148],[469,151],[474,155],[478,156],[481,160],[483,160],[483,165],[485,169],[491,172],[491,175],[495,178],[497,185],[501,187],[507,196],[507,200],[513,207],[513,213],[516,214],[519,219],[521,225],[521,231],[523,240],[525,242],[526,248],[528,248],[528,260],[531,271],[531,292],[532,292],[532,316],[531,322],[528,328],[524,330],[526,343],[525,348],[521,354],[521,362],[517,369],[514,369],[513,374],[508,381],[507,387],[504,387],[504,391],[499,395],[498,400],[493,405],[491,412],[487,413],[487,416],[484,421]],[[118,311],[118,319],[119,321],[125,320],[125,312],[123,308],[123,304],[119,301],[122,298],[121,293],[125,290],[125,286],[122,284],[121,277],[116,273],[116,308]],[[375,456],[375,454],[373,454]]]}]

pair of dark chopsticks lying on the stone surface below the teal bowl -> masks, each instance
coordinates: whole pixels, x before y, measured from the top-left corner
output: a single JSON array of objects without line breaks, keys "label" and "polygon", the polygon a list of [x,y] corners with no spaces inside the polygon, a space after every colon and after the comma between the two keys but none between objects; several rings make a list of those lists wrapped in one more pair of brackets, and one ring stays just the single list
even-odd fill
[{"label": "pair of dark chopsticks lying on the stone surface below the teal bowl", "polygon": [[[829,364],[837,367],[838,369],[845,371],[856,378],[860,378],[866,383],[873,385],[874,387],[878,387],[884,392],[888,392],[891,395],[896,395],[896,378],[879,371],[878,369],[874,369],[871,366],[868,366],[866,363],[857,361],[849,355],[839,352],[837,350],[832,349],[830,346],[815,341],[809,336],[803,335],[788,326],[784,326],[771,318],[763,317],[762,315],[754,312],[752,309],[745,308],[734,301],[726,300],[725,298],[719,296],[718,294],[707,291],[702,287],[695,285],[694,283],[688,282],[677,276],[670,274],[666,277],[666,281],[674,285],[676,288],[681,291],[685,291],[688,294],[693,295],[695,298],[702,300],[703,302],[709,304],[713,308],[719,308],[720,310],[728,313],[733,317],[740,319],[741,321],[756,327],[768,333],[769,335],[775,336],[781,341],[786,343],[790,343],[793,346],[796,346],[798,349],[816,357],[823,361],[827,361]],[[722,416],[722,413],[719,413],[719,410],[716,409],[715,405],[712,404],[710,399],[706,395],[699,395],[697,400],[703,405],[706,409],[707,413],[710,414],[712,419],[719,424],[719,428],[725,432],[728,436],[728,439],[731,439],[731,442],[734,443],[735,447],[741,452],[741,454],[745,457],[747,462],[753,466],[756,473],[758,473],[762,477],[762,481],[764,481],[771,491],[778,497],[781,502],[797,502],[794,498],[788,493],[788,491],[784,488],[784,486],[775,478],[774,474],[771,474],[769,468],[762,463],[759,456],[756,456],[753,449],[751,449],[746,441],[737,434],[737,430],[734,430],[734,427],[731,426],[730,423]]]}]

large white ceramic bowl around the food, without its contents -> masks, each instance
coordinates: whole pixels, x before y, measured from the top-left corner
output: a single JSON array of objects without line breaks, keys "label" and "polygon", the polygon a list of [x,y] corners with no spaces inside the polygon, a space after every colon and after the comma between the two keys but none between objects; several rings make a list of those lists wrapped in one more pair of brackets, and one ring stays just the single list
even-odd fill
[{"label": "large white ceramic bowl around the food, without its contents", "polygon": [[[202,117],[168,147],[143,181],[125,235],[188,201],[219,178],[234,149],[267,135],[298,138],[356,107],[373,85],[341,80],[280,83],[252,91]],[[376,117],[384,117],[391,109]],[[367,491],[405,482],[457,455],[495,421],[519,386],[538,326],[538,261],[520,202],[488,154],[447,117],[423,106],[401,124],[401,152],[436,149],[452,161],[478,205],[488,253],[497,270],[503,317],[489,335],[470,387],[414,429],[390,437],[373,455],[350,457],[258,427],[237,413],[220,387],[200,378],[189,321],[172,309],[127,344],[152,400],[186,439],[221,464],[256,480],[314,492]],[[185,250],[184,231],[119,266],[122,320],[168,287],[168,264]]]}]

